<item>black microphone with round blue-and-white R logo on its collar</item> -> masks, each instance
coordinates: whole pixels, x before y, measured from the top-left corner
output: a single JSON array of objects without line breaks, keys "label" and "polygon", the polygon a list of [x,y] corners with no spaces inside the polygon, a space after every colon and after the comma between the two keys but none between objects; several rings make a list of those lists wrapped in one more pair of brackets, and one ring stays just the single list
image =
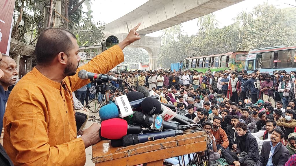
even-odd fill
[{"label": "black microphone with round blue-and-white R logo on its collar", "polygon": [[[158,115],[161,115],[161,114],[155,114],[155,115],[158,117]],[[154,128],[154,126],[157,126],[157,125],[155,125],[157,123],[157,121],[155,121],[155,119],[159,120],[155,117],[149,116],[148,114],[144,114],[141,112],[135,112],[135,113],[133,113],[132,121],[137,124],[150,126],[150,128],[152,130],[158,130],[159,128]],[[176,123],[171,123],[171,122],[167,122],[167,121],[163,121],[163,120],[162,120],[162,122],[163,122],[162,128],[164,128],[164,129],[180,128],[180,126]]]}]

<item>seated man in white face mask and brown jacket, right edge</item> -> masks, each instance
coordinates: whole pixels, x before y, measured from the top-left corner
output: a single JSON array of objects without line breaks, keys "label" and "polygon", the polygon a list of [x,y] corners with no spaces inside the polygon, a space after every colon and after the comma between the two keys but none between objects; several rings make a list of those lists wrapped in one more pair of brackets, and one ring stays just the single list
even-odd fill
[{"label": "seated man in white face mask and brown jacket, right edge", "polygon": [[296,120],[293,119],[293,111],[286,110],[285,118],[281,118],[278,121],[276,121],[276,125],[284,128],[284,139],[287,140],[288,135],[294,132],[296,126]]}]

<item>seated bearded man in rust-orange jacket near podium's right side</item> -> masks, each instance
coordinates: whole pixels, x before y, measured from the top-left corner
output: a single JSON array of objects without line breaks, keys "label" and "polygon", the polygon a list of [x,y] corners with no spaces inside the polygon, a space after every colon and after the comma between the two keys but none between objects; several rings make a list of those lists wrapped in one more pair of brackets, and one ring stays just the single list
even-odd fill
[{"label": "seated bearded man in rust-orange jacket near podium's right side", "polygon": [[214,116],[211,133],[215,137],[216,146],[217,146],[217,149],[219,149],[218,153],[221,155],[222,149],[228,148],[229,141],[228,141],[226,132],[220,126],[221,126],[221,118],[218,116]]}]

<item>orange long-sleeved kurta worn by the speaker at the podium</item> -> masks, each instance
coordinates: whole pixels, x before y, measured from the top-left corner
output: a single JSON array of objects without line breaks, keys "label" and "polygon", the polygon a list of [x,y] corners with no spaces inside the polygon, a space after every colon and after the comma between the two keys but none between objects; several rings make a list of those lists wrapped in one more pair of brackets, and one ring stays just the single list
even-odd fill
[{"label": "orange long-sleeved kurta worn by the speaker at the podium", "polygon": [[79,79],[78,71],[107,73],[123,60],[122,50],[115,45],[61,83],[46,78],[36,68],[26,74],[10,93],[4,115],[3,145],[12,162],[84,165],[84,142],[76,138],[71,93],[90,81]]}]

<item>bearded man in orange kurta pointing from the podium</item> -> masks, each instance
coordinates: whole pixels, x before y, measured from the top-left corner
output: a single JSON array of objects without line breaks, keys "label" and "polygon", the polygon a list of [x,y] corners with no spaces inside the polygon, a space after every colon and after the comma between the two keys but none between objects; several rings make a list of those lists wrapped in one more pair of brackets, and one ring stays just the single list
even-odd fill
[{"label": "bearded man in orange kurta pointing from the podium", "polygon": [[98,124],[77,138],[72,91],[90,82],[84,69],[107,73],[123,62],[122,49],[139,40],[136,29],[118,45],[77,67],[79,47],[73,34],[51,28],[36,44],[37,66],[14,87],[4,115],[4,149],[14,165],[84,165],[85,148],[100,141]]}]

